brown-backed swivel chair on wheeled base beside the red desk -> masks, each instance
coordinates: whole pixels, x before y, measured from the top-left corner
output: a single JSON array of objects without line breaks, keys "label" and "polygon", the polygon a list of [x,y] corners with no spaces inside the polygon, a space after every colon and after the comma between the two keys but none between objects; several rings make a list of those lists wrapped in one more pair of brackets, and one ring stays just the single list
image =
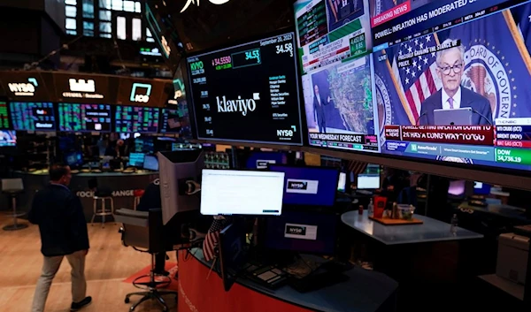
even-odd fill
[{"label": "brown-backed swivel chair on wheeled base beside the red desk", "polygon": [[[148,300],[157,301],[167,311],[168,307],[165,303],[165,294],[172,294],[177,301],[177,292],[169,290],[159,290],[158,286],[167,286],[171,283],[171,278],[165,276],[158,276],[163,281],[156,281],[154,273],[155,270],[155,255],[160,252],[168,251],[165,243],[165,234],[162,224],[162,211],[160,209],[151,209],[150,212],[135,211],[132,209],[118,209],[116,210],[115,219],[122,224],[119,232],[121,232],[121,240],[124,246],[133,247],[135,250],[149,253],[151,255],[151,270],[149,275],[144,275],[135,278],[133,285],[137,288],[143,288],[145,291],[138,293],[128,293],[125,302],[129,303],[130,297],[142,296],[140,301],[137,301],[131,306],[130,311],[134,311],[142,302]],[[149,277],[149,282],[139,282],[140,279]]]}]

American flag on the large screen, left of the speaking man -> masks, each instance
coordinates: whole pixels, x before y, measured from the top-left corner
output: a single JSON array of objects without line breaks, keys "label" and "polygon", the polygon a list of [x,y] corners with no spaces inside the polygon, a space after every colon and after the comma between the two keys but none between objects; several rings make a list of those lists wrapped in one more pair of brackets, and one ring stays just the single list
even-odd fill
[{"label": "American flag on the large screen, left of the speaking man", "polygon": [[412,41],[401,43],[393,60],[393,72],[396,78],[400,78],[403,88],[398,92],[405,95],[407,107],[404,109],[407,110],[406,112],[411,117],[412,122],[419,118],[421,103],[442,88],[443,85],[437,77],[435,52],[413,57],[410,66],[401,68],[398,68],[397,57],[436,45],[437,37],[434,34],[427,34]]}]

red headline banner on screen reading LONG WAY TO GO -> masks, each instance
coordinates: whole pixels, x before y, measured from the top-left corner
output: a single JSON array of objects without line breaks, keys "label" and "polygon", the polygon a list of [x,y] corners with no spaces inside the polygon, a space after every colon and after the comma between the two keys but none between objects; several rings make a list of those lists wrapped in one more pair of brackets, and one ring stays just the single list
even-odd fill
[{"label": "red headline banner on screen reading LONG WAY TO GO", "polygon": [[391,141],[496,145],[494,126],[385,126],[385,138]]}]

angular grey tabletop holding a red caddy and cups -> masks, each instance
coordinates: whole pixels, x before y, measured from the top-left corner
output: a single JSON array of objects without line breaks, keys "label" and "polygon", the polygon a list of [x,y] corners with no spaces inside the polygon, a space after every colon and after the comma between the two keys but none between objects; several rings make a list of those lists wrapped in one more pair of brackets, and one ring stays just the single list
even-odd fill
[{"label": "angular grey tabletop holding a red caddy and cups", "polygon": [[450,232],[450,224],[431,217],[415,215],[424,224],[383,225],[369,219],[367,210],[363,215],[358,211],[342,214],[342,223],[358,232],[378,240],[385,245],[415,244],[425,242],[482,239],[483,235],[458,227],[455,234]]}]

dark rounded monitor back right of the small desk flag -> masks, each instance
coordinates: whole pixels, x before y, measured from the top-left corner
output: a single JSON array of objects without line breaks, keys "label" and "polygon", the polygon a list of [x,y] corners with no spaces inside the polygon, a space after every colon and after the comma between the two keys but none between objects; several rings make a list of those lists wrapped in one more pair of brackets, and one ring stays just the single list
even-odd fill
[{"label": "dark rounded monitor back right of the small desk flag", "polygon": [[228,292],[246,262],[245,232],[239,224],[230,224],[219,232],[219,260],[223,287]]}]

